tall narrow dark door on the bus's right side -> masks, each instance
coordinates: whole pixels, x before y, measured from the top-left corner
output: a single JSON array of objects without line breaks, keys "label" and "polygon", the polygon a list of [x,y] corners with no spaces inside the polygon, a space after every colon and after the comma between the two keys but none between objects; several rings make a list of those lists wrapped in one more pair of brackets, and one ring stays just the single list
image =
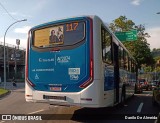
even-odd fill
[{"label": "tall narrow dark door on the bus's right side", "polygon": [[119,103],[119,62],[118,46],[113,42],[113,64],[114,64],[114,104]]}]

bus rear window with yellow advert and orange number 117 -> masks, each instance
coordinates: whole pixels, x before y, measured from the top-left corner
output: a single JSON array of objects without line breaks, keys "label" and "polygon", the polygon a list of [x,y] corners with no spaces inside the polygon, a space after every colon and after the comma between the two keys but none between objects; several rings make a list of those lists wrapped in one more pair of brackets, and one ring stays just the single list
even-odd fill
[{"label": "bus rear window with yellow advert and orange number 117", "polygon": [[52,47],[74,45],[85,38],[85,22],[75,21],[40,28],[33,32],[33,46]]}]

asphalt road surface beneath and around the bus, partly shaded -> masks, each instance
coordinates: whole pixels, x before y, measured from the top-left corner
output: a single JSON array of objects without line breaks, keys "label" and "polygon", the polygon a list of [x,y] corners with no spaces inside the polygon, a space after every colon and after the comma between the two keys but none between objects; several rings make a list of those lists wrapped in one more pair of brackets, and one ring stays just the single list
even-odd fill
[{"label": "asphalt road surface beneath and around the bus, partly shaded", "polygon": [[[24,97],[24,83],[18,83],[17,88],[13,88],[11,83],[6,86],[11,93],[0,99],[0,114],[12,115],[36,115],[42,117],[42,121],[37,123],[57,123],[57,122],[109,122],[109,123],[154,123],[155,120],[137,120],[144,116],[158,116],[160,107],[152,106],[152,92],[144,91],[128,99],[125,104],[109,108],[80,108],[50,106],[48,104],[27,103]],[[136,117],[136,119],[134,119]],[[126,119],[125,119],[126,118]],[[131,119],[134,120],[131,120]],[[28,121],[7,121],[0,123],[24,123]],[[31,121],[30,121],[31,122]]]}]

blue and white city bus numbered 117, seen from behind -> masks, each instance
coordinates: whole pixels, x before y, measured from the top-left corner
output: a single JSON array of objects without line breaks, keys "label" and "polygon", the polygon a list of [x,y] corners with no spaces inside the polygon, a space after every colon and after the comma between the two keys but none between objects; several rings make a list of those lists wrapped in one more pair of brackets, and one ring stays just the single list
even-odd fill
[{"label": "blue and white city bus numbered 117, seen from behind", "polygon": [[97,16],[57,20],[29,31],[27,102],[108,107],[134,94],[136,61]]}]

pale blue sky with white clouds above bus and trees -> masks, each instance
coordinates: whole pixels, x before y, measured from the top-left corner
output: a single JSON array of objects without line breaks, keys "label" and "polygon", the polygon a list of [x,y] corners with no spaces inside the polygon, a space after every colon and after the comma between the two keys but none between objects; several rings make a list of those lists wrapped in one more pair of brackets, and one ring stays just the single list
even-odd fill
[{"label": "pale blue sky with white clouds above bus and trees", "polygon": [[5,41],[26,48],[30,28],[63,18],[97,15],[104,23],[112,23],[126,16],[136,25],[145,26],[150,49],[160,48],[160,0],[0,0],[0,42],[7,28],[17,20],[27,19],[11,26]]}]

